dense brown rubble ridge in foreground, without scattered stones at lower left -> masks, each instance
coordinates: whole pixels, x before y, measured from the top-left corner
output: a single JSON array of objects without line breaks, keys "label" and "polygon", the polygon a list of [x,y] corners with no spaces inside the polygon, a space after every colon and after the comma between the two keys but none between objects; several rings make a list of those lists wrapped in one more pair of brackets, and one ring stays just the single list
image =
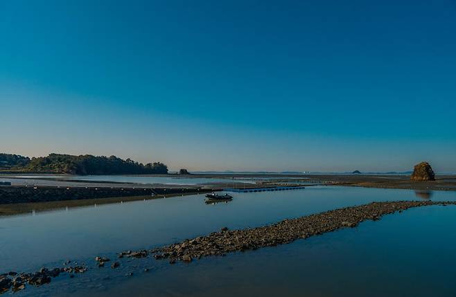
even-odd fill
[{"label": "dense brown rubble ridge in foreground, without scattered stones at lower left", "polygon": [[373,202],[363,206],[353,206],[308,215],[297,219],[285,219],[270,226],[229,231],[222,228],[207,236],[184,240],[170,246],[152,250],[156,259],[169,259],[191,262],[193,259],[213,255],[225,255],[238,251],[260,249],[266,246],[288,244],[298,239],[320,235],[344,227],[355,227],[365,220],[377,220],[383,215],[401,213],[412,207],[456,204],[456,201],[394,201]]}]

